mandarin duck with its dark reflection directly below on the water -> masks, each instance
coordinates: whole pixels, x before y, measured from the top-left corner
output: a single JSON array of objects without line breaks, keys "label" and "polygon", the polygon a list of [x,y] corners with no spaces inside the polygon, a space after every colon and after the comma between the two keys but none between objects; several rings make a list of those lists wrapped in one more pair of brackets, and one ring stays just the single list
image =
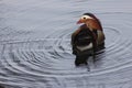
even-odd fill
[{"label": "mandarin duck with its dark reflection directly below on the water", "polygon": [[89,56],[96,62],[96,52],[105,48],[106,37],[100,20],[92,13],[84,13],[77,24],[82,25],[72,34],[73,54],[76,55],[75,65],[87,65]]}]

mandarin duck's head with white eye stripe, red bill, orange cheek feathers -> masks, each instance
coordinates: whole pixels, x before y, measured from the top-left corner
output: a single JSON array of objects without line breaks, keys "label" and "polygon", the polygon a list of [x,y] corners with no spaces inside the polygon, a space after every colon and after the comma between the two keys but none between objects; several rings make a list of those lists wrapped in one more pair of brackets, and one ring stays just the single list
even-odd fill
[{"label": "mandarin duck's head with white eye stripe, red bill, orange cheek feathers", "polygon": [[90,30],[101,30],[102,26],[99,21],[92,13],[84,13],[77,24],[85,23]]}]

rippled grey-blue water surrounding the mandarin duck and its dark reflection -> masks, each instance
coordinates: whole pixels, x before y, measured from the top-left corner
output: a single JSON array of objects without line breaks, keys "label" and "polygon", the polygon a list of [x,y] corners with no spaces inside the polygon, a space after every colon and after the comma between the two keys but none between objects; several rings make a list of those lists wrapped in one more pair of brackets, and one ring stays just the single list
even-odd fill
[{"label": "rippled grey-blue water surrounding the mandarin duck and its dark reflection", "polygon": [[[0,84],[7,88],[131,88],[131,0],[0,0]],[[85,12],[106,34],[95,65],[76,67],[70,34]]]}]

